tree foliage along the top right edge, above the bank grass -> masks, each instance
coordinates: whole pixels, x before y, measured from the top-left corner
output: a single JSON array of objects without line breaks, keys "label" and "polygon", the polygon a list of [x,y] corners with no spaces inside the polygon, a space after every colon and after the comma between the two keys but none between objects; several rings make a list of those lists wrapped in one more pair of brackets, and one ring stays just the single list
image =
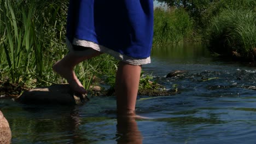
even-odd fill
[{"label": "tree foliage along the top right edge, above the bank grass", "polygon": [[183,8],[191,19],[195,20],[196,28],[206,28],[213,16],[225,9],[256,10],[254,0],[158,0],[169,8]]}]

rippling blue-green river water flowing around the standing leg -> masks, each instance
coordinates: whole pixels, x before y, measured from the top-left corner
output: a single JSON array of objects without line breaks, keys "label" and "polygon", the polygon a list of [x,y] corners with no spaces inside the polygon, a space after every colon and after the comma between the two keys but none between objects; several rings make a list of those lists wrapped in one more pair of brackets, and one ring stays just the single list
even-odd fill
[{"label": "rippling blue-green river water flowing around the standing leg", "polygon": [[[12,143],[256,142],[252,65],[212,57],[203,45],[189,44],[154,48],[152,64],[143,70],[166,89],[176,85],[179,91],[164,97],[138,95],[137,114],[148,119],[117,119],[114,97],[91,97],[74,107],[1,100]],[[166,78],[173,70],[187,73]]]}]

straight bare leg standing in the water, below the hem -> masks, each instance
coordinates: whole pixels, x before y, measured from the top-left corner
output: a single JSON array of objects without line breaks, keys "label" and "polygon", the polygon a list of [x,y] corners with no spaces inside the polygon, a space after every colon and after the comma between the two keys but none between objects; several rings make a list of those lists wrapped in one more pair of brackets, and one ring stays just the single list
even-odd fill
[{"label": "straight bare leg standing in the water, below the hem", "polygon": [[115,80],[118,113],[126,114],[135,112],[140,75],[141,65],[119,62]]}]

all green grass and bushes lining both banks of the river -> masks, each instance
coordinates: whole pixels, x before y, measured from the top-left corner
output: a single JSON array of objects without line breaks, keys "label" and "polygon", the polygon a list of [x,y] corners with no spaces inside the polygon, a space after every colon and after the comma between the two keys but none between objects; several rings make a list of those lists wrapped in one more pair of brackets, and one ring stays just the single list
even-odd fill
[{"label": "all green grass and bushes lining both banks of the river", "polygon": [[[154,9],[153,49],[205,43],[215,55],[256,61],[255,1],[159,2],[167,6]],[[0,0],[0,4],[0,95],[5,91],[19,95],[26,89],[65,83],[51,66],[68,52],[68,1]],[[104,54],[79,64],[75,73],[86,89],[92,85],[113,89],[117,63]],[[140,89],[154,89],[150,83],[155,82],[150,80],[142,74]]]}]

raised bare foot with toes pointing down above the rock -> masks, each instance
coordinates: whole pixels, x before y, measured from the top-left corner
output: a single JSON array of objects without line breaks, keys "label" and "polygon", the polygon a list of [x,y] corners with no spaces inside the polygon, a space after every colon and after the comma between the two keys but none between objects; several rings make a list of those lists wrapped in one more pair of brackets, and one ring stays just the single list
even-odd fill
[{"label": "raised bare foot with toes pointing down above the rock", "polygon": [[86,90],[84,89],[82,83],[77,79],[77,76],[75,75],[73,68],[68,68],[67,65],[65,65],[65,63],[59,61],[53,65],[53,70],[57,74],[64,77],[75,92],[81,94],[86,93]]}]

